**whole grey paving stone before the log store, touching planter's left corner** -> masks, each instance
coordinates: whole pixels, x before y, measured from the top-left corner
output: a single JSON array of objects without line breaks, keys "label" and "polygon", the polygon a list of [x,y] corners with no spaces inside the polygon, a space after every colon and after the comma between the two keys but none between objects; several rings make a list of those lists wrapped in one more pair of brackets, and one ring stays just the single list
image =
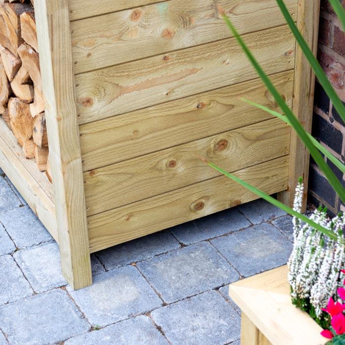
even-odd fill
[{"label": "whole grey paving stone before the log store, touching planter's left corner", "polygon": [[155,256],[139,262],[137,267],[166,303],[239,278],[237,272],[207,242]]}]

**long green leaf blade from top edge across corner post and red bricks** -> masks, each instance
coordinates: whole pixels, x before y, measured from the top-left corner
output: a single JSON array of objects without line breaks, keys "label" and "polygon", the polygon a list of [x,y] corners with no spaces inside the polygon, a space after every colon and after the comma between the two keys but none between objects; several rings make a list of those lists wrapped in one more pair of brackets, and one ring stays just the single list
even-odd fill
[{"label": "long green leaf blade from top edge across corner post and red bricks", "polygon": [[329,82],[326,74],[324,73],[323,69],[321,68],[320,64],[318,63],[317,59],[315,58],[314,54],[312,53],[311,49],[309,48],[307,42],[301,35],[300,31],[298,30],[293,18],[291,17],[288,9],[286,8],[283,0],[276,0],[278,6],[289,25],[292,34],[295,36],[297,43],[301,47],[305,57],[308,59],[311,68],[315,72],[318,81],[322,85],[323,89],[325,90],[328,97],[332,100],[334,107],[337,109],[340,117],[342,118],[343,122],[345,123],[345,105],[342,103],[340,98],[338,97],[337,93],[335,92],[334,88],[332,87],[331,83]]}]

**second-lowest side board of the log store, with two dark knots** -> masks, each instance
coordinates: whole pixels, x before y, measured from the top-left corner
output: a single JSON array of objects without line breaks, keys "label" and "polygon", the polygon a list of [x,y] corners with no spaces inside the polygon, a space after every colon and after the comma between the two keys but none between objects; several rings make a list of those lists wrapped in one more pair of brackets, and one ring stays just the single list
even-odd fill
[{"label": "second-lowest side board of the log store, with two dark knots", "polygon": [[290,132],[275,118],[84,173],[87,215],[220,175],[199,157],[234,172],[284,156]]}]

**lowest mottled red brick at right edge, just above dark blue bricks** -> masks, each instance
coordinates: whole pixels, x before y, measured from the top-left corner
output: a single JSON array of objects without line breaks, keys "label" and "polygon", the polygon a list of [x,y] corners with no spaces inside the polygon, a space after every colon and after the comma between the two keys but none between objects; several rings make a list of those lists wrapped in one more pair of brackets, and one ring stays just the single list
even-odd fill
[{"label": "lowest mottled red brick at right edge, just above dark blue bricks", "polygon": [[317,58],[332,85],[342,89],[345,85],[345,66],[321,50],[318,51]]}]

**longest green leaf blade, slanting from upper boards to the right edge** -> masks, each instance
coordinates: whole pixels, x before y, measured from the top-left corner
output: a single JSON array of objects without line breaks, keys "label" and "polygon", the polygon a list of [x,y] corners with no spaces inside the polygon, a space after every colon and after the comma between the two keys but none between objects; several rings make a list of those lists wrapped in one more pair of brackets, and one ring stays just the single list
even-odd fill
[{"label": "longest green leaf blade, slanting from upper boards to the right edge", "polygon": [[255,57],[252,55],[244,41],[242,40],[242,37],[238,34],[236,28],[233,26],[232,22],[228,18],[228,16],[222,12],[223,18],[228,25],[229,29],[231,30],[232,34],[236,37],[237,41],[242,47],[242,50],[244,51],[245,55],[249,59],[250,63],[254,67],[254,69],[257,71],[258,75],[260,76],[261,80],[264,82],[268,90],[271,92],[272,96],[276,100],[276,103],[279,105],[283,113],[287,116],[288,120],[291,123],[291,126],[294,128],[294,130],[297,132],[297,135],[306,145],[307,149],[311,153],[311,157],[315,161],[315,163],[319,166],[321,171],[325,174],[328,182],[333,187],[335,192],[339,195],[339,198],[345,203],[345,189],[342,186],[342,184],[339,182],[336,175],[333,173],[333,171],[330,169],[330,167],[326,164],[326,162],[323,160],[323,157],[321,156],[320,152],[316,149],[316,147],[311,142],[311,139],[308,137],[306,131],[300,124],[300,122],[295,117],[294,113],[291,111],[289,106],[285,103],[285,101],[280,96],[279,92],[276,90],[274,85],[272,84],[270,78],[266,75],[264,70],[261,68]]}]

